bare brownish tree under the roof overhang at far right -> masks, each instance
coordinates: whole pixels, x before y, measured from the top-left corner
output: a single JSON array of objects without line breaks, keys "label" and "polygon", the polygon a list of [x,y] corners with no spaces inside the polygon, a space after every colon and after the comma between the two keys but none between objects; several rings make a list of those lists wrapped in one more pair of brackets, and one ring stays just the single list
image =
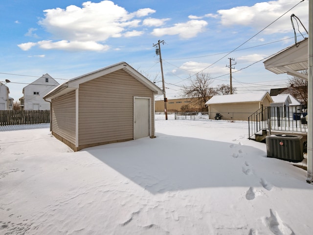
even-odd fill
[{"label": "bare brownish tree under the roof overhang at far right", "polygon": [[[308,74],[308,70],[304,70],[302,71],[302,73]],[[303,101],[303,105],[307,107],[308,106],[308,81],[302,78],[292,77],[289,79],[289,84],[291,85],[291,87],[293,87],[291,95]]]}]

